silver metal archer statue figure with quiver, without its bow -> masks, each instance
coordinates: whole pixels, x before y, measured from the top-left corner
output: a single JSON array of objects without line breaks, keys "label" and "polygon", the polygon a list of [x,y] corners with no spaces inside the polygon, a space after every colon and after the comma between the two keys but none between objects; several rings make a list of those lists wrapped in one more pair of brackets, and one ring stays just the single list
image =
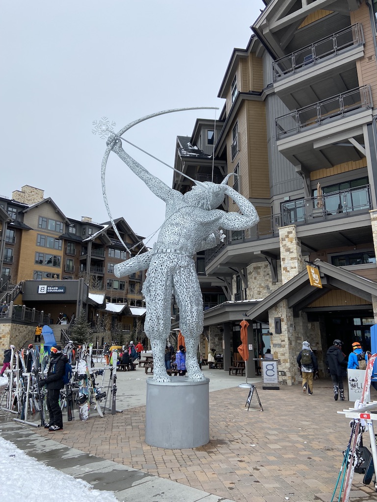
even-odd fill
[{"label": "silver metal archer statue figure with quiver, without its bow", "polygon": [[[146,302],[144,330],[153,353],[153,381],[171,381],[165,369],[164,352],[171,328],[172,293],[179,307],[179,329],[186,345],[187,376],[204,380],[206,377],[197,359],[204,325],[203,298],[194,255],[214,247],[223,229],[244,230],[255,225],[258,214],[251,202],[227,185],[230,175],[220,184],[206,181],[182,194],[130,157],[119,137],[111,135],[107,144],[149,190],[166,203],[165,221],[153,249],[114,267],[117,277],[148,269],[142,292]],[[233,199],[241,214],[216,209],[225,195]]]}]

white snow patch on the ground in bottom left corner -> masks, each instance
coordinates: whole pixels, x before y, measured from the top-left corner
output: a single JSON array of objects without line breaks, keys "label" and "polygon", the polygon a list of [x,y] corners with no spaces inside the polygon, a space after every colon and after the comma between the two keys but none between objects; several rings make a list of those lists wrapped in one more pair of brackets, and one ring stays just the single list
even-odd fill
[{"label": "white snow patch on the ground in bottom left corner", "polygon": [[28,457],[0,436],[1,499],[15,502],[34,499],[31,483],[35,486],[42,483],[40,495],[49,502],[118,502],[112,491],[92,489],[86,481]]}]

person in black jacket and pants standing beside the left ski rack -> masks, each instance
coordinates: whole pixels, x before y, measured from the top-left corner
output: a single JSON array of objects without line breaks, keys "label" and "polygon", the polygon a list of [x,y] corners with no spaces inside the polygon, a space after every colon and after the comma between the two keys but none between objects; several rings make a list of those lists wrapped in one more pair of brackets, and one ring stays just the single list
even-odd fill
[{"label": "person in black jacket and pants standing beside the left ski rack", "polygon": [[65,363],[67,356],[62,353],[60,345],[51,347],[50,365],[47,377],[39,381],[39,385],[46,386],[47,389],[47,409],[50,414],[50,421],[45,424],[45,429],[49,431],[60,431],[63,428],[63,416],[59,406],[60,389],[64,387],[63,376],[65,374]]}]

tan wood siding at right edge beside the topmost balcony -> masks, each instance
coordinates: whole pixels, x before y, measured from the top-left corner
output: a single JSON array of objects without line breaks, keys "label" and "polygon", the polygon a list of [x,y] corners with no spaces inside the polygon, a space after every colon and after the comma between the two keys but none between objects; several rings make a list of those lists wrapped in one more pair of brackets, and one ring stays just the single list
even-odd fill
[{"label": "tan wood siding at right edge beside the topmost balcony", "polygon": [[374,42],[372,29],[370,26],[369,10],[363,3],[359,9],[350,13],[351,23],[361,23],[364,32],[364,57],[356,61],[357,76],[359,85],[370,84],[373,103],[377,103],[377,65],[375,61]]}]

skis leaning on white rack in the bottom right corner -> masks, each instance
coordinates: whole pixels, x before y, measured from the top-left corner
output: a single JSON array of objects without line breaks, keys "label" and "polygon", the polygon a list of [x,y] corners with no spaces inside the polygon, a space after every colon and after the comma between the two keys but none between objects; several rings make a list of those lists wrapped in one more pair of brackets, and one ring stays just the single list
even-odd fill
[{"label": "skis leaning on white rack in the bottom right corner", "polygon": [[[367,414],[362,413],[362,408],[365,406],[367,396],[369,395],[370,381],[371,381],[371,376],[372,376],[372,372],[373,372],[373,364],[374,364],[376,357],[377,357],[377,354],[373,354],[368,359],[366,369],[365,369],[365,376],[364,376],[364,383],[363,383],[363,387],[362,387],[361,398],[360,398],[360,400],[356,401],[355,409],[350,410],[352,412],[358,413],[359,417],[354,418],[353,421],[351,422],[351,436],[349,438],[347,448],[344,452],[343,463],[340,467],[340,472],[339,472],[338,479],[335,484],[335,488],[334,488],[334,492],[333,492],[333,495],[331,498],[331,502],[333,502],[333,500],[334,500],[335,492],[336,492],[337,487],[339,485],[340,479],[341,479],[341,482],[340,482],[338,502],[340,501],[342,490],[344,490],[342,502],[348,502],[349,493],[350,493],[351,485],[352,485],[353,474],[355,472],[355,469],[360,468],[361,464],[364,461],[363,454],[361,452],[361,441],[362,441],[362,433],[367,428],[367,425],[366,425],[364,418],[368,418],[368,416],[367,416]],[[338,412],[338,413],[344,414],[346,412],[344,411],[344,412]],[[363,417],[363,415],[365,415],[365,417]],[[373,436],[373,441],[375,441],[374,436]],[[368,473],[368,475],[369,475],[369,473]],[[370,473],[370,477],[371,476],[372,476],[372,473]]]}]

